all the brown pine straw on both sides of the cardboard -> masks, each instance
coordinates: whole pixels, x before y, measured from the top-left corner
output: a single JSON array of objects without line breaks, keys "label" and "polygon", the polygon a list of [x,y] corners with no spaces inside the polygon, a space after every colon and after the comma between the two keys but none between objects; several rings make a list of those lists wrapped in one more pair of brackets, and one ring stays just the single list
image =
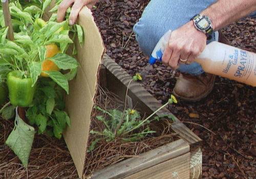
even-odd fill
[{"label": "all the brown pine straw on both sides of the cardboard", "polygon": [[[117,96],[100,88],[96,97],[96,104],[101,108],[123,108],[123,102]],[[102,130],[103,124],[95,119],[98,111],[92,112],[93,130]],[[99,142],[97,148],[88,153],[85,174],[132,158],[143,152],[168,144],[178,139],[176,133],[170,130],[169,120],[160,124],[152,124],[157,131],[154,136],[148,136],[139,142],[122,143],[119,140],[106,143]],[[0,119],[0,178],[78,178],[74,163],[63,139],[57,140],[46,135],[36,135],[30,154],[28,169],[25,169],[12,150],[5,145],[5,141],[13,128],[13,120]],[[90,135],[89,141],[95,136]],[[89,142],[89,145],[90,145]],[[86,152],[86,151],[85,151]]]}]

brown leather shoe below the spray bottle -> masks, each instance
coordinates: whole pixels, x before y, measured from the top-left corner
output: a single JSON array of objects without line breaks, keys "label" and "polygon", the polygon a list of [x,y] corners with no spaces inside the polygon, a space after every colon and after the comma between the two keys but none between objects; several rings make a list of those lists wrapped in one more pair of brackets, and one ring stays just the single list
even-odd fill
[{"label": "brown leather shoe below the spray bottle", "polygon": [[180,74],[173,93],[176,97],[186,101],[200,101],[212,91],[215,78],[215,75],[208,73],[198,76]]}]

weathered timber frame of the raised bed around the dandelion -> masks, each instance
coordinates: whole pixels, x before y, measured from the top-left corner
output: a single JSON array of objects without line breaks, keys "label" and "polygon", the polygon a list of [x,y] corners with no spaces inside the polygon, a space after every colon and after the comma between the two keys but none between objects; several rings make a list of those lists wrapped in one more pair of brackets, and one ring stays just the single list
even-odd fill
[{"label": "weathered timber frame of the raised bed around the dandelion", "polygon": [[[108,55],[104,55],[100,71],[101,85],[117,94],[123,100],[132,77],[127,74]],[[128,93],[129,105],[151,114],[161,104],[138,82],[131,82]],[[157,115],[171,114],[166,108]],[[176,118],[172,129],[179,134],[180,140],[145,152],[138,158],[127,159],[100,171],[92,173],[91,179],[98,178],[201,178],[202,152],[201,139]],[[84,176],[86,177],[86,176]]]}]

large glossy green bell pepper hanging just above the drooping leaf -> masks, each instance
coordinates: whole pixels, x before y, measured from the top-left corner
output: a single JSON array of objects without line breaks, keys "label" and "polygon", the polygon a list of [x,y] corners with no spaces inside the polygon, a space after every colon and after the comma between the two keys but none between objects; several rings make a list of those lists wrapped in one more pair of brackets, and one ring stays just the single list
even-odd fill
[{"label": "large glossy green bell pepper hanging just above the drooping leaf", "polygon": [[23,78],[19,71],[12,71],[7,75],[10,102],[14,106],[28,107],[35,94],[31,78]]}]

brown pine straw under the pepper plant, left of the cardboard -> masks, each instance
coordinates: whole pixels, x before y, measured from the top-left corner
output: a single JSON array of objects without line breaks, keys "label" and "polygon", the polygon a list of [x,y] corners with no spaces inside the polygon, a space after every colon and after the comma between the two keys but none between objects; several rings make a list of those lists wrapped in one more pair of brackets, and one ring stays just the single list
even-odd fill
[{"label": "brown pine straw under the pepper plant, left of the cardboard", "polygon": [[77,172],[63,139],[36,135],[28,170],[5,141],[13,129],[13,120],[0,119],[0,178],[77,178]]}]

